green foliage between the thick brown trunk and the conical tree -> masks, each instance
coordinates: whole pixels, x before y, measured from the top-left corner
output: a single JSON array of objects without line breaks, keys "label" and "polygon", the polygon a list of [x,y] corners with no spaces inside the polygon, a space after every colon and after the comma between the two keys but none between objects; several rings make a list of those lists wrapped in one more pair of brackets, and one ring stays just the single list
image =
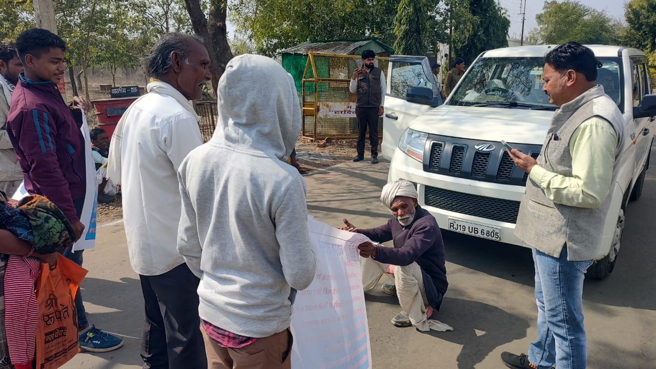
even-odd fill
[{"label": "green foliage between the thick brown trunk and the conical tree", "polygon": [[265,55],[304,41],[380,37],[391,45],[396,37],[395,0],[236,0],[230,20],[236,32]]}]

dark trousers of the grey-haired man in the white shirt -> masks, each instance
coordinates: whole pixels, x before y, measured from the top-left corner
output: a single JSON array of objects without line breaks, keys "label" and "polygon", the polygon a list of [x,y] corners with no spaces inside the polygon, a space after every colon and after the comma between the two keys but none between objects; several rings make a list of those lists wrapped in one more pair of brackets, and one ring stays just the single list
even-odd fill
[{"label": "dark trousers of the grey-haired man in the white shirt", "polygon": [[143,369],[207,369],[196,292],[200,280],[186,264],[139,279],[146,307]]}]

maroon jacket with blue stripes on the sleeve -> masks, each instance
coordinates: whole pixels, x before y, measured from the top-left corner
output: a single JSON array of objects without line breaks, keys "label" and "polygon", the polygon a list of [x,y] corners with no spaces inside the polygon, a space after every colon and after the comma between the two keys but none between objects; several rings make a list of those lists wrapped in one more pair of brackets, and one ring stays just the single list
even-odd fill
[{"label": "maroon jacket with blue stripes on the sleeve", "polygon": [[71,223],[79,221],[73,200],[85,197],[84,137],[57,86],[20,74],[7,133],[28,192],[54,202]]}]

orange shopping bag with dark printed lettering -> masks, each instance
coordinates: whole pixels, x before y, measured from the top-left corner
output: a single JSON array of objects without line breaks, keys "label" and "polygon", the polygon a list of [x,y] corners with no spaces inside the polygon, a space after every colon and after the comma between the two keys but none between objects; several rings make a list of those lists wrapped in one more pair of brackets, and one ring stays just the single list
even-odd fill
[{"label": "orange shopping bag with dark printed lettering", "polygon": [[59,368],[79,353],[75,293],[86,274],[86,269],[62,255],[52,271],[48,264],[41,264],[37,279],[37,369]]}]

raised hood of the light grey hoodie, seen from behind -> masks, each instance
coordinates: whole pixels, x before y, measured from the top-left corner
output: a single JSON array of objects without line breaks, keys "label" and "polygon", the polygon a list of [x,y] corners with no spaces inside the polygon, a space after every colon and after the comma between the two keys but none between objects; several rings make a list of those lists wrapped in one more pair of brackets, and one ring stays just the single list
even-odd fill
[{"label": "raised hood of the light grey hoodie, seen from behind", "polygon": [[232,58],[218,81],[218,122],[212,142],[287,160],[300,135],[294,80],[266,56]]}]

